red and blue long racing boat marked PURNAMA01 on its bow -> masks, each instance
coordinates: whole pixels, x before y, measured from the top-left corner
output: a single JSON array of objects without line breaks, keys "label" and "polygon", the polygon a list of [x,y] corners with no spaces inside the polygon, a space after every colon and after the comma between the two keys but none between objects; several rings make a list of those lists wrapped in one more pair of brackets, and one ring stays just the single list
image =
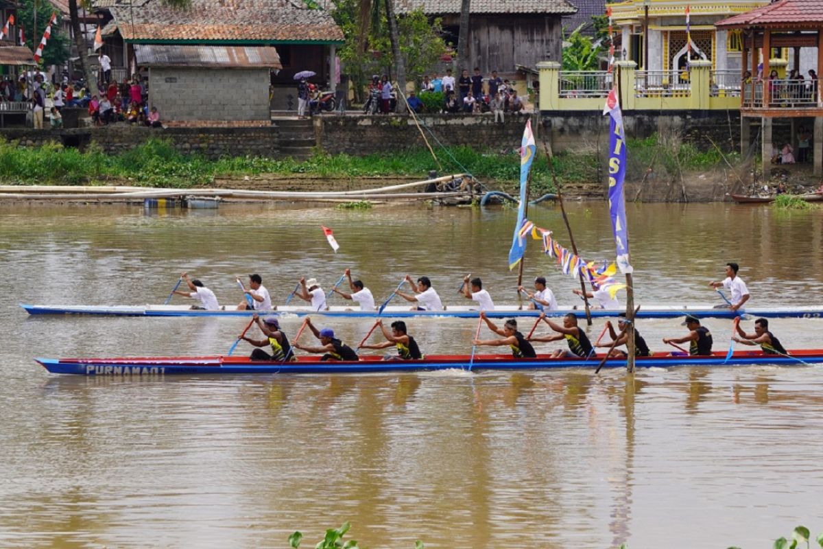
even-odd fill
[{"label": "red and blue long racing boat marked PURNAMA01 on its bow", "polygon": [[[657,352],[638,357],[637,368],[667,366],[801,365],[823,363],[823,349],[789,351],[790,356],[765,355],[762,351],[717,351],[712,356],[672,356]],[[173,375],[173,374],[353,374],[417,370],[546,370],[590,368],[597,357],[550,358],[548,355],[515,360],[511,355],[431,355],[421,361],[384,361],[381,356],[361,356],[360,361],[320,361],[318,356],[300,356],[297,361],[252,361],[243,356],[152,356],[136,358],[35,358],[53,374],[76,375]],[[625,360],[609,359],[606,368],[625,367]]]}]

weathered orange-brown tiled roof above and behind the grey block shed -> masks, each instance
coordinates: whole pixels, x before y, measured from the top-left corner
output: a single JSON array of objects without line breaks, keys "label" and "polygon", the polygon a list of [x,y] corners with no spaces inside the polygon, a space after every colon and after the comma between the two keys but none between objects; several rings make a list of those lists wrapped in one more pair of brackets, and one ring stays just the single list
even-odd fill
[{"label": "weathered orange-brown tiled roof above and behind the grey block shed", "polygon": [[110,8],[124,40],[173,43],[260,43],[343,41],[343,32],[325,10],[299,0],[192,0],[186,10],[151,0],[137,9]]}]

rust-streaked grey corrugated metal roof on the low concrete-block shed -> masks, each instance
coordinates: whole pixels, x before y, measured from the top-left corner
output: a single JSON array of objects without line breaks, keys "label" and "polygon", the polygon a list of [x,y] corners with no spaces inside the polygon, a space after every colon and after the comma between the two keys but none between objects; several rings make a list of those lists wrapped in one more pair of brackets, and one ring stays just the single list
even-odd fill
[{"label": "rust-streaked grey corrugated metal roof on the low concrete-block shed", "polygon": [[142,67],[282,68],[272,47],[135,44],[134,54]]}]

